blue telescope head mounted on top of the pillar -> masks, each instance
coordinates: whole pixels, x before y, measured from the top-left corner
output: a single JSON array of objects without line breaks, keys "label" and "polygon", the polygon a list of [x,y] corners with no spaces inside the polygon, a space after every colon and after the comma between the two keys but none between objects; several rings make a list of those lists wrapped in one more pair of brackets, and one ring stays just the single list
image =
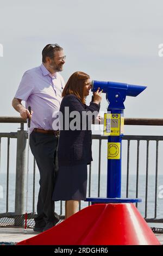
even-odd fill
[{"label": "blue telescope head mounted on top of the pillar", "polygon": [[124,108],[123,102],[126,96],[136,97],[146,86],[136,86],[135,84],[118,83],[118,82],[103,82],[92,80],[92,92],[96,92],[97,89],[103,89],[103,93],[106,93],[106,100],[110,102],[111,108]]}]

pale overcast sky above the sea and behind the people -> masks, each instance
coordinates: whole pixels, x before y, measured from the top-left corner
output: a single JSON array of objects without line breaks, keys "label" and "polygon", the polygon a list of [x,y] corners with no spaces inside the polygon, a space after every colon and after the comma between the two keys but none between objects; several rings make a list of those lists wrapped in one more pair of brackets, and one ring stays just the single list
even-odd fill
[{"label": "pale overcast sky above the sea and behind the people", "polygon": [[[57,43],[66,54],[65,81],[84,71],[92,80],[147,86],[126,98],[124,117],[162,118],[162,10],[161,0],[0,0],[0,116],[18,116],[11,101],[23,73],[41,64],[46,44]],[[101,110],[107,107],[103,94]],[[0,132],[17,127],[1,124]],[[126,126],[125,134],[163,131]]]}]

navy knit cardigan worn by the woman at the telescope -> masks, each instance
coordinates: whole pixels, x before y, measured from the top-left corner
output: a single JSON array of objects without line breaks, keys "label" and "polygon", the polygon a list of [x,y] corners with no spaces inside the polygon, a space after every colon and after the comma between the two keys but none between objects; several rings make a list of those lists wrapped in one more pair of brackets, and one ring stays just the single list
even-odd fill
[{"label": "navy knit cardigan worn by the woman at the telescope", "polygon": [[[66,95],[60,106],[60,112],[65,120],[65,107],[69,107],[69,112],[78,111],[80,117],[82,112],[97,111],[99,112],[100,105],[95,102],[90,102],[90,106],[87,106],[73,94]],[[73,118],[68,118],[69,123]],[[65,123],[63,122],[63,125]],[[82,118],[81,118],[82,126]],[[61,130],[59,145],[58,145],[58,161],[59,166],[70,166],[76,164],[90,164],[92,161],[92,132],[91,130]]]}]

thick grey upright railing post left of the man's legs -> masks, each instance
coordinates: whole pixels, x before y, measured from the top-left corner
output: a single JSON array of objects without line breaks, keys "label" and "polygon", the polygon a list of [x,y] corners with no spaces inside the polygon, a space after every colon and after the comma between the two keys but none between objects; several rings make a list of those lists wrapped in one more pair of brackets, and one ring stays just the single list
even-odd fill
[{"label": "thick grey upright railing post left of the man's legs", "polygon": [[[22,215],[25,212],[26,198],[26,145],[27,132],[17,131],[17,153],[16,153],[16,188],[15,188],[15,214]],[[23,220],[17,221],[16,226],[22,226]]]}]

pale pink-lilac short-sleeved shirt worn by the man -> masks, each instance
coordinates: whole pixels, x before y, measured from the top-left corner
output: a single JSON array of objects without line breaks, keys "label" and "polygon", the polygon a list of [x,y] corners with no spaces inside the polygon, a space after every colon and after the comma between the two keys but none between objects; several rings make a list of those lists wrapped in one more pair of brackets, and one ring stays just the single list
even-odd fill
[{"label": "pale pink-lilac short-sleeved shirt worn by the man", "polygon": [[58,72],[52,76],[43,64],[24,73],[15,97],[26,101],[26,108],[32,108],[31,131],[53,130],[54,113],[59,111],[64,87],[62,76]]}]

